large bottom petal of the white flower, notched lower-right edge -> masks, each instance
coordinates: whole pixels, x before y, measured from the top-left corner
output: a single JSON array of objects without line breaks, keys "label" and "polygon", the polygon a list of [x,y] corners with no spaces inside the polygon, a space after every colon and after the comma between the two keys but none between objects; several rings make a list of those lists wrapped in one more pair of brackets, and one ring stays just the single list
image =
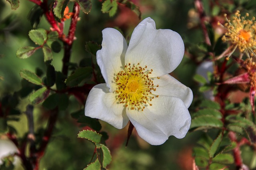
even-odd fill
[{"label": "large bottom petal of the white flower, notched lower-right edge", "polygon": [[163,144],[169,136],[185,137],[191,117],[182,100],[171,96],[159,96],[144,111],[126,109],[138,135],[151,145]]}]

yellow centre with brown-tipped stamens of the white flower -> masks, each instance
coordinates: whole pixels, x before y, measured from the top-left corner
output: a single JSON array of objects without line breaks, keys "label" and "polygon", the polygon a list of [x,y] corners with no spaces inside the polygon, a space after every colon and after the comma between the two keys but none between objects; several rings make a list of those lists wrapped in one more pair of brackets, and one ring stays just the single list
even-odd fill
[{"label": "yellow centre with brown-tipped stamens of the white flower", "polygon": [[[149,78],[149,74],[152,74],[151,70],[146,70],[147,66],[142,68],[130,63],[124,66],[124,70],[117,73],[116,76],[116,94],[119,104],[124,104],[129,109],[141,110],[146,106],[152,106],[150,102],[158,95],[152,94],[152,91],[156,91],[156,87],[153,83],[154,78]],[[159,79],[159,77],[157,77]]]}]

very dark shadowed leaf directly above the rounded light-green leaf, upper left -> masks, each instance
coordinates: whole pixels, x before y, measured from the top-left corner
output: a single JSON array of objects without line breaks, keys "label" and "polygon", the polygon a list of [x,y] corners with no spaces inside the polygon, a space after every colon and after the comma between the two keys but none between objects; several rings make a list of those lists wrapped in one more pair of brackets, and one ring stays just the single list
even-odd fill
[{"label": "very dark shadowed leaf directly above the rounded light-green leaf, upper left", "polygon": [[35,5],[31,8],[30,12],[28,13],[28,20],[33,28],[38,27],[43,14],[44,10],[40,6]]}]

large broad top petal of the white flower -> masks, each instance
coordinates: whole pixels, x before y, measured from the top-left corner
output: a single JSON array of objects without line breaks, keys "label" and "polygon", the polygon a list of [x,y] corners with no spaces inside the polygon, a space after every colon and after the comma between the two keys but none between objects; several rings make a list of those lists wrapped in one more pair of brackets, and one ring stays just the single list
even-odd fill
[{"label": "large broad top petal of the white flower", "polygon": [[152,76],[172,72],[184,55],[180,35],[170,29],[156,29],[151,18],[144,19],[133,31],[125,56],[125,63],[148,66]]}]

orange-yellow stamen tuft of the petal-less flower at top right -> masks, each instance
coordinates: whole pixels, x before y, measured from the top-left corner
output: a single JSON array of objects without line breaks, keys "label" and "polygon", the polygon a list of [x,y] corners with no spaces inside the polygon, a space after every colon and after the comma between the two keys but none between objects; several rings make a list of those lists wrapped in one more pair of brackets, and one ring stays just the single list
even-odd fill
[{"label": "orange-yellow stamen tuft of the petal-less flower at top right", "polygon": [[[237,11],[230,21],[226,18],[227,23],[224,24],[226,33],[222,37],[224,42],[230,41],[234,46],[234,50],[238,48],[241,53],[245,53],[248,57],[256,56],[256,23],[255,18],[246,19],[249,14],[241,17],[240,11]],[[226,15],[225,15],[226,17]]]}]

